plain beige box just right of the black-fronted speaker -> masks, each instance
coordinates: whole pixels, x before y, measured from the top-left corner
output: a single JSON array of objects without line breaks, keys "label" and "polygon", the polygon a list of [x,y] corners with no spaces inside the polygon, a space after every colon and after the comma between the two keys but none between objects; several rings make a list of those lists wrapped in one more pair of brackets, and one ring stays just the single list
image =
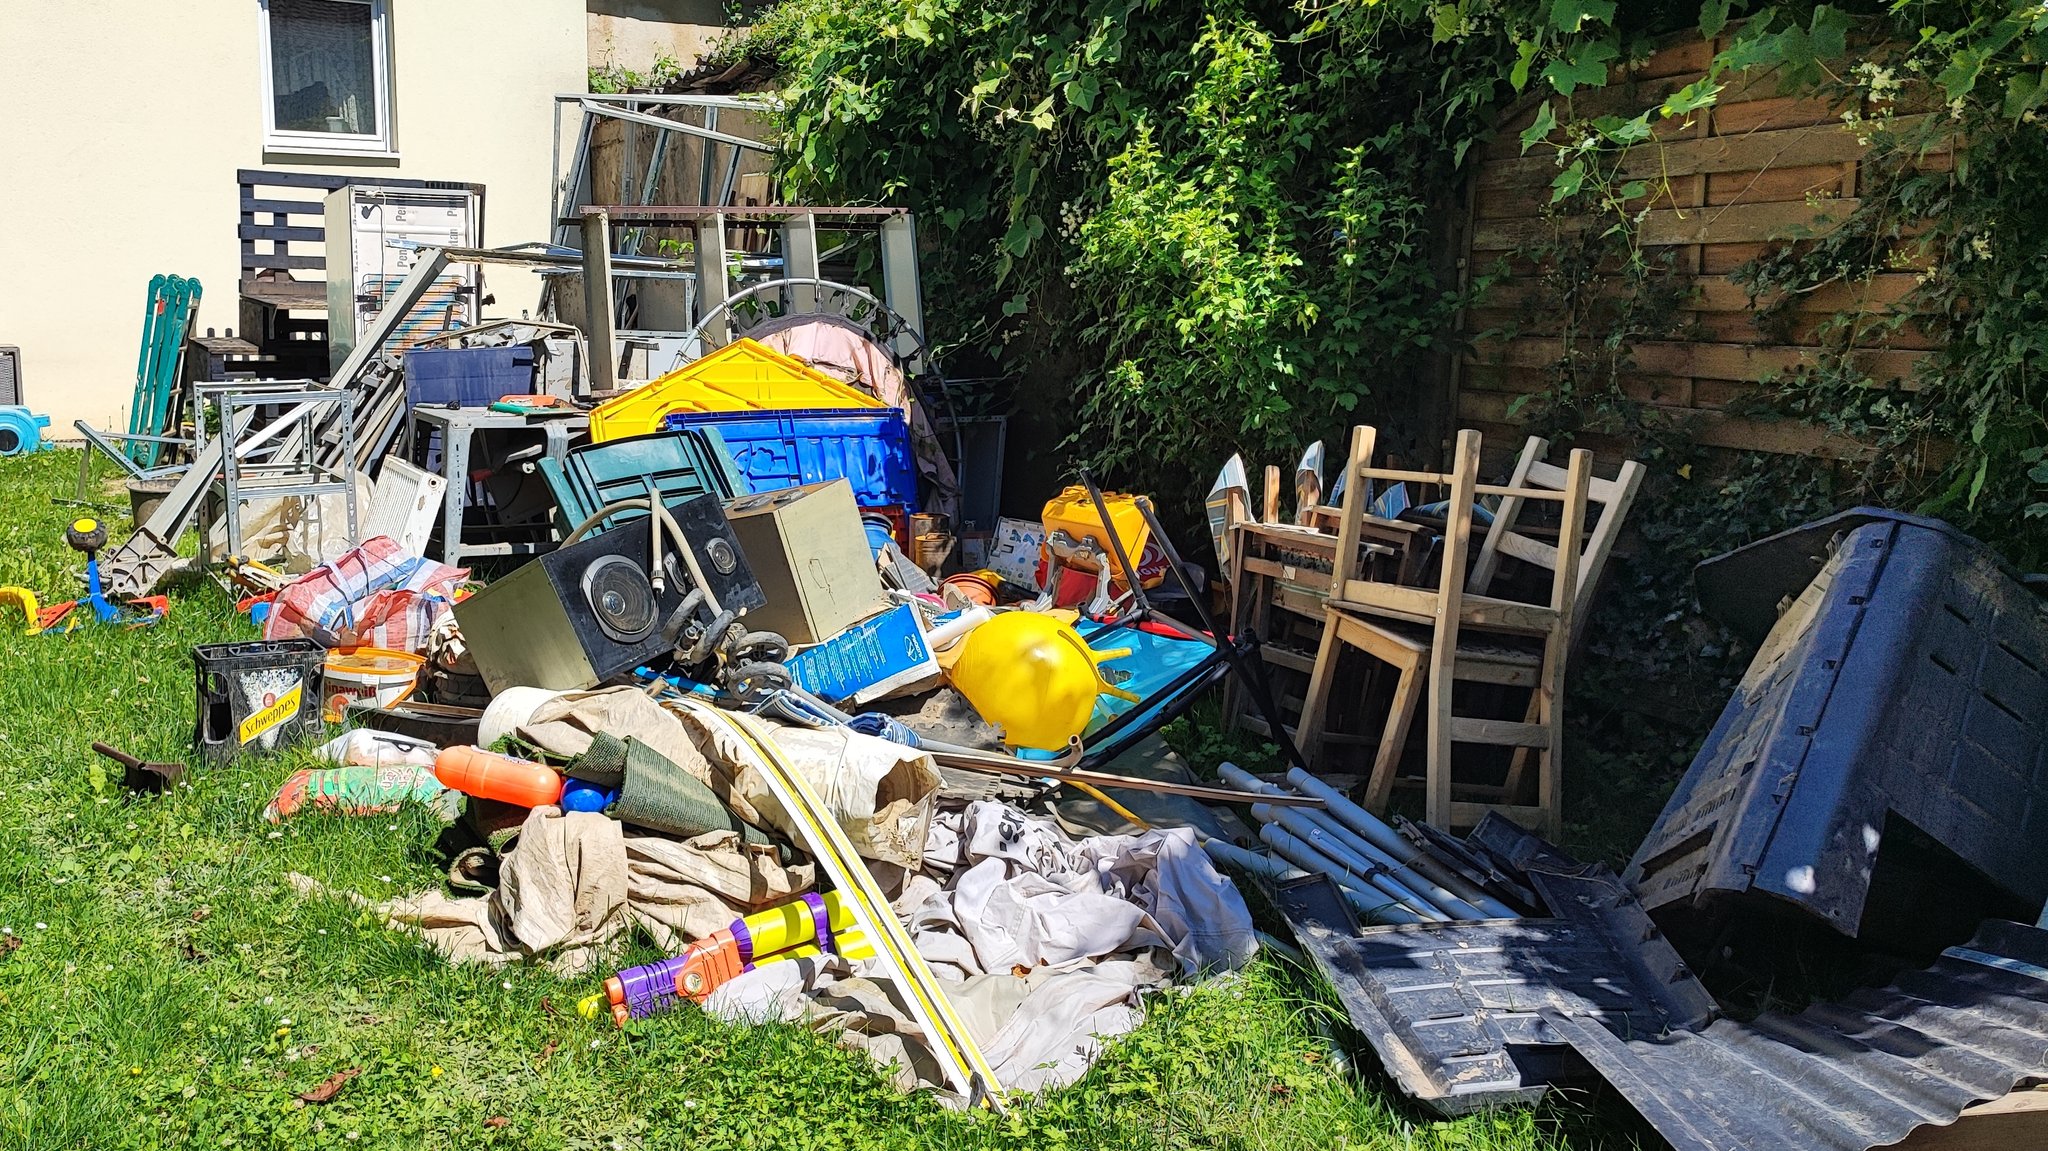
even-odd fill
[{"label": "plain beige box just right of the black-fronted speaker", "polygon": [[725,504],[768,606],[748,627],[817,643],[870,616],[883,600],[860,508],[846,479],[739,496]]}]

